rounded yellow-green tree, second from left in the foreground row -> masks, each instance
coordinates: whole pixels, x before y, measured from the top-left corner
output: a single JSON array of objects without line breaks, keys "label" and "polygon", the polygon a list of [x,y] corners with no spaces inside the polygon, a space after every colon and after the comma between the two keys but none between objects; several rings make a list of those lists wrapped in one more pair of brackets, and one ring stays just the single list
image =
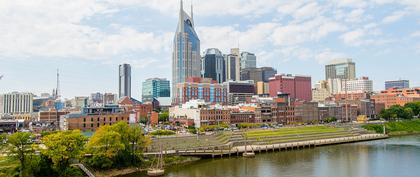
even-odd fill
[{"label": "rounded yellow-green tree, second from left in the foreground row", "polygon": [[69,167],[71,159],[79,159],[86,137],[79,130],[61,131],[42,138],[45,149],[43,155],[50,158],[58,172],[64,172]]}]

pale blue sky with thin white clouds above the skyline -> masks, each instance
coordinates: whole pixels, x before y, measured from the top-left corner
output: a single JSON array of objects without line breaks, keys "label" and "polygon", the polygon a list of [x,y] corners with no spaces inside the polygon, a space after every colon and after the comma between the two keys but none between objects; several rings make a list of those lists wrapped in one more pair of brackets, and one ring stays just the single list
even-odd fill
[{"label": "pale blue sky with thin white clouds above the skyline", "polygon": [[[190,11],[191,0],[184,1]],[[418,0],[194,0],[201,50],[231,47],[279,73],[324,78],[324,64],[353,58],[357,76],[420,86]],[[132,94],[149,77],[171,79],[178,0],[0,1],[0,93],[66,98],[118,92],[118,64],[132,65]]]}]

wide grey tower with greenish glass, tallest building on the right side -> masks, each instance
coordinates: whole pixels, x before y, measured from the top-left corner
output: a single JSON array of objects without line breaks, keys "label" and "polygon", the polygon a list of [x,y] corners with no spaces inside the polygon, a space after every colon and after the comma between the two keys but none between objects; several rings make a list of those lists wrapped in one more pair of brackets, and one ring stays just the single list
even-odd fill
[{"label": "wide grey tower with greenish glass, tallest building on the right side", "polygon": [[351,59],[336,59],[325,65],[325,80],[356,78],[356,64]]}]

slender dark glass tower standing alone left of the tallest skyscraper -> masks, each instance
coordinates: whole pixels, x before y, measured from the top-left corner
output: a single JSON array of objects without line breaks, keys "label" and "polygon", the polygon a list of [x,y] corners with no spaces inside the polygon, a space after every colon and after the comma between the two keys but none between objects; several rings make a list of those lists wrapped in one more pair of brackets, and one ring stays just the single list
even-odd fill
[{"label": "slender dark glass tower standing alone left of the tallest skyscraper", "polygon": [[130,64],[121,64],[119,66],[119,92],[118,96],[131,97],[131,66]]}]

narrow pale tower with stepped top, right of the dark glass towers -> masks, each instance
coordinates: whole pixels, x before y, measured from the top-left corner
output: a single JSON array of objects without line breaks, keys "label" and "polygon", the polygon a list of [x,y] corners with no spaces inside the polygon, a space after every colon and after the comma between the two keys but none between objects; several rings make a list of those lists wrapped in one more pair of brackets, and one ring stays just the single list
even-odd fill
[{"label": "narrow pale tower with stepped top, right of the dark glass towers", "polygon": [[230,54],[225,55],[226,81],[241,80],[241,58],[239,48],[230,49]]}]

